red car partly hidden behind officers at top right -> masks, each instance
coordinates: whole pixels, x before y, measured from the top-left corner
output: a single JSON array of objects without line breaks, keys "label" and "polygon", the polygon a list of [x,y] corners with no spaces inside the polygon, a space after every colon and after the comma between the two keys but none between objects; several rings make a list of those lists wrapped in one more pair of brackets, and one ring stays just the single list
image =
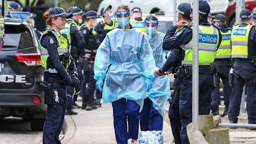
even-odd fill
[{"label": "red car partly hidden behind officers at top right", "polygon": [[[228,4],[229,7],[227,8],[227,11],[225,12],[225,16],[227,18],[227,25],[228,27],[232,28],[235,26],[235,7],[236,2],[235,0],[230,1]],[[256,7],[256,0],[245,0],[245,8],[252,11]]]}]

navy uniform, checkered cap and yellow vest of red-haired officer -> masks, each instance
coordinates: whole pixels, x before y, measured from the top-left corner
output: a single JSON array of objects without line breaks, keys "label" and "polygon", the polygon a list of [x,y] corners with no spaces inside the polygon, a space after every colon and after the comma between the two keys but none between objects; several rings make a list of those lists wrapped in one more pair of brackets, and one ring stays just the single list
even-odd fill
[{"label": "navy uniform, checkered cap and yellow vest of red-haired officer", "polygon": [[[50,10],[49,17],[72,17],[72,14],[66,14],[64,9],[55,7]],[[72,78],[68,75],[66,68],[61,63],[63,59],[63,51],[59,51],[60,43],[59,39],[65,39],[66,36],[50,30],[45,32],[40,38],[40,49],[41,49],[41,61],[44,63],[45,76],[43,84],[52,84],[53,88],[58,91],[59,102],[54,104],[47,104],[47,115],[43,128],[43,144],[60,144],[59,134],[62,130],[64,123],[64,116],[67,104],[66,85],[78,86],[79,80],[77,78],[78,73],[76,71],[75,62],[70,56],[69,69],[72,74]],[[66,39],[67,45],[61,44],[63,48],[69,49],[69,43]],[[62,48],[62,49],[63,49]],[[62,57],[62,58],[61,58]],[[42,65],[43,65],[42,63]],[[54,69],[55,72],[50,71]],[[75,78],[76,77],[76,78]]]}]

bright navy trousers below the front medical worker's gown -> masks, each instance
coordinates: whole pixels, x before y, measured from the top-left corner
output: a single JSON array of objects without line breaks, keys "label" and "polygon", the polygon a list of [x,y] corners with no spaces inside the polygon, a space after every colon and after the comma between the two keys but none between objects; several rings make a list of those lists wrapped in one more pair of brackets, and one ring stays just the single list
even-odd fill
[{"label": "bright navy trousers below the front medical worker's gown", "polygon": [[125,98],[112,102],[112,106],[116,143],[128,144],[128,139],[138,139],[140,106]]}]

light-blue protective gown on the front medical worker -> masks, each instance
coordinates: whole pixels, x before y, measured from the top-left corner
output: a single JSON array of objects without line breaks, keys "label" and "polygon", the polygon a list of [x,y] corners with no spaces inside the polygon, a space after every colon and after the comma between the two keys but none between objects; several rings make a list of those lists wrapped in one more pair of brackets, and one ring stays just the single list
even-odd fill
[{"label": "light-blue protective gown on the front medical worker", "polygon": [[104,79],[108,67],[101,103],[126,98],[135,100],[142,109],[146,97],[145,78],[154,77],[155,67],[145,34],[136,28],[117,28],[107,33],[97,50],[94,78]]}]

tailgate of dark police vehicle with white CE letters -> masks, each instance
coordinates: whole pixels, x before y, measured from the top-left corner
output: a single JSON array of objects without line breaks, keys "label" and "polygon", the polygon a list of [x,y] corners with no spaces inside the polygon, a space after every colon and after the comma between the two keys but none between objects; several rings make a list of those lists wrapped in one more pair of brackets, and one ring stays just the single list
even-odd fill
[{"label": "tailgate of dark police vehicle with white CE letters", "polygon": [[21,25],[5,24],[5,43],[0,52],[0,89],[33,87],[36,66],[40,65],[31,31]]}]

